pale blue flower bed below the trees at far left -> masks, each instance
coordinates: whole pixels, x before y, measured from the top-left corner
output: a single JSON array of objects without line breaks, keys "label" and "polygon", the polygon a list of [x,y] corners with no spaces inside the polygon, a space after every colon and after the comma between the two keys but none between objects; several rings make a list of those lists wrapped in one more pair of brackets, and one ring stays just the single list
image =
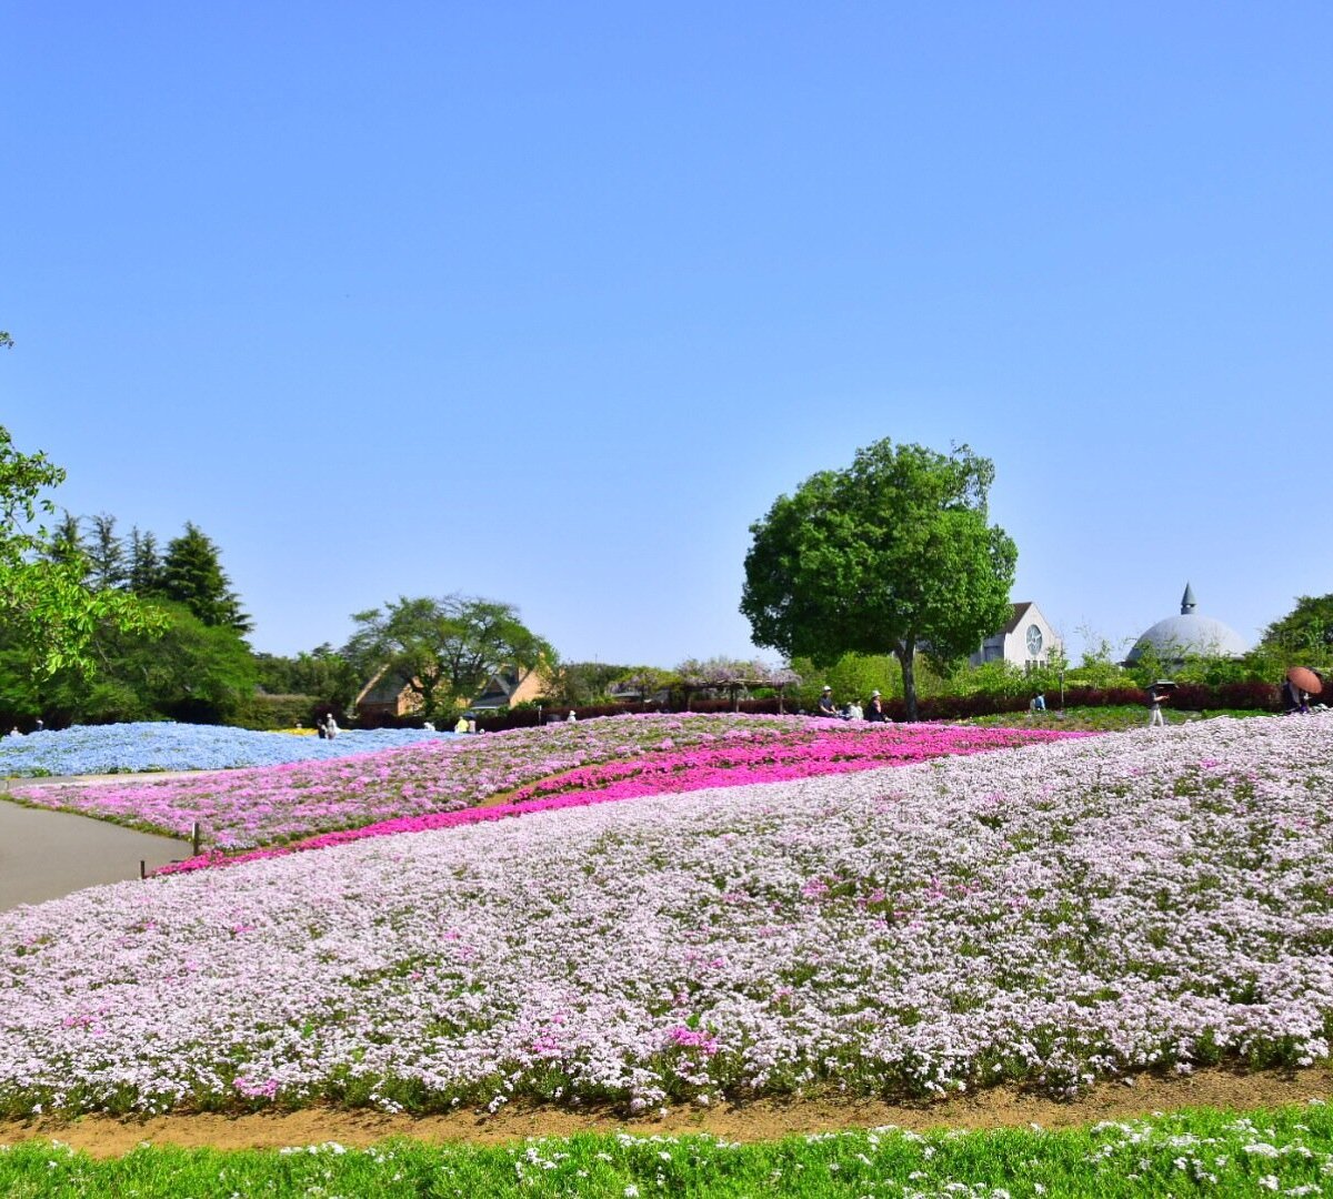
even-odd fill
[{"label": "pale blue flower bed below the trees at far left", "polygon": [[332,741],[256,733],[221,725],[140,722],[76,725],[0,738],[0,777],[132,774],[148,770],[231,770],[320,762],[349,754],[461,739],[421,729],[347,729]]}]

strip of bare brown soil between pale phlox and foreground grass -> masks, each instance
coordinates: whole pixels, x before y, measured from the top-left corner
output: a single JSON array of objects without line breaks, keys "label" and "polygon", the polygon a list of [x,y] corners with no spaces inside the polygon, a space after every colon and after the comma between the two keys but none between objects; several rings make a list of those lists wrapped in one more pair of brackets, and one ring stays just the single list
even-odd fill
[{"label": "strip of bare brown soil between pale phlox and foreground grass", "polygon": [[639,1136],[708,1132],[725,1140],[773,1140],[793,1134],[834,1132],[893,1124],[900,1128],[1005,1128],[1037,1124],[1068,1128],[1100,1120],[1129,1120],[1182,1107],[1252,1108],[1312,1099],[1333,1100],[1333,1068],[1237,1074],[1200,1070],[1185,1076],[1141,1075],[1133,1084],[1102,1083],[1076,1102],[1062,1103],[1017,1087],[941,1103],[893,1104],[836,1099],[758,1100],[746,1104],[672,1108],[663,1116],[628,1119],[613,1111],[577,1112],[555,1107],[511,1107],[495,1115],[385,1115],[364,1110],[311,1107],[251,1115],[149,1118],[83,1116],[0,1120],[0,1144],[61,1140],[92,1156],[120,1156],[143,1143],[219,1150],[283,1148],[336,1142],[360,1148],[388,1138],[431,1143],[503,1144],[529,1136],[625,1131]]}]

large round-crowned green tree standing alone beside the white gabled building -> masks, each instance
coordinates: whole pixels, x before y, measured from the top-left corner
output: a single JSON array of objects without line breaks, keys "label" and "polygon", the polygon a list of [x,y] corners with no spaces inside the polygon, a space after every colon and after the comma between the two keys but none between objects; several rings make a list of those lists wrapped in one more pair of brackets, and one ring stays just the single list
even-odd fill
[{"label": "large round-crowned green tree standing alone beside the white gabled building", "polygon": [[916,719],[918,650],[964,657],[1009,618],[1018,552],[990,525],[989,460],[885,438],[750,526],[741,611],[756,645],[832,666],[893,654]]}]

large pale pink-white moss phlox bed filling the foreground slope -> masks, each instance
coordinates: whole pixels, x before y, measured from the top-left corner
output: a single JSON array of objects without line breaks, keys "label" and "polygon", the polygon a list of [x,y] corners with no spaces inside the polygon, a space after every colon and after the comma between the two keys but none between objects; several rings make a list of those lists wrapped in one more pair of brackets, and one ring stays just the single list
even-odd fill
[{"label": "large pale pink-white moss phlox bed filling the foreground slope", "polygon": [[95,887],[0,915],[0,1110],[1308,1064],[1330,791],[1333,715],[1224,718]]}]

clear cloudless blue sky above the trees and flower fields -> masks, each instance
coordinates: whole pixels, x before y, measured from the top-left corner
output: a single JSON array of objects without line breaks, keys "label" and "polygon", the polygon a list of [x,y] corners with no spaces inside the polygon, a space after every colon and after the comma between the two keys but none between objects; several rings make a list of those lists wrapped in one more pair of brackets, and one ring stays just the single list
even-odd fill
[{"label": "clear cloudless blue sky above the trees and flower fields", "polygon": [[[996,464],[1072,649],[1333,592],[1333,8],[8,5],[0,422],[252,643],[749,655],[749,525]],[[1302,494],[1301,480],[1318,490]],[[776,655],[765,654],[770,661]]]}]

